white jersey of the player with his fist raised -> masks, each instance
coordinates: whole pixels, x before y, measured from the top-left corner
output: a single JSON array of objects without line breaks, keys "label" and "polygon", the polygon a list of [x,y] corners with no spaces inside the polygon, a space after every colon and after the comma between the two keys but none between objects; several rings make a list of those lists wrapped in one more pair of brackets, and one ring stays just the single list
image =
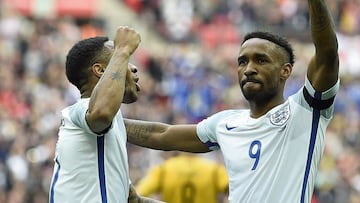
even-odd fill
[{"label": "white jersey of the player with his fist raised", "polygon": [[102,135],[85,120],[89,99],[62,110],[50,203],[128,202],[126,130],[121,112]]}]

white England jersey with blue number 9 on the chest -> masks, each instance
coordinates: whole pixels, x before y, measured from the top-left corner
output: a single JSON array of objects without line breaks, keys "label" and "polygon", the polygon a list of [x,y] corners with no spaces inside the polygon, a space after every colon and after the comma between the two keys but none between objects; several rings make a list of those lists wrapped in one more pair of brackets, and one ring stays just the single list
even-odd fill
[{"label": "white England jersey with blue number 9 on the chest", "polygon": [[311,202],[338,89],[318,93],[306,80],[260,118],[226,110],[197,125],[201,141],[223,153],[231,203]]}]

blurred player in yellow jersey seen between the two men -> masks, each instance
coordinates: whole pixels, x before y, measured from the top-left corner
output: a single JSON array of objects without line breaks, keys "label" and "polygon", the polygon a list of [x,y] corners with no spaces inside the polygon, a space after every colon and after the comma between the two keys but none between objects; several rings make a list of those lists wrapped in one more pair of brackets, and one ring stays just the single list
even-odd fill
[{"label": "blurred player in yellow jersey seen between the two men", "polygon": [[159,194],[168,203],[222,203],[228,177],[222,164],[180,152],[151,168],[136,190],[143,196]]}]

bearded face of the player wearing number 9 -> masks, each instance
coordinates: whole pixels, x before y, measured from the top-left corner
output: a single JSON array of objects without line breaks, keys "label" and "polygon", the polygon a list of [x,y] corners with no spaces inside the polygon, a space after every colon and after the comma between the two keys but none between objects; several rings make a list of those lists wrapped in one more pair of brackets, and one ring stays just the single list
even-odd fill
[{"label": "bearded face of the player wearing number 9", "polygon": [[280,47],[268,40],[247,40],[238,57],[241,91],[249,101],[264,103],[279,93],[280,70],[283,62]]}]

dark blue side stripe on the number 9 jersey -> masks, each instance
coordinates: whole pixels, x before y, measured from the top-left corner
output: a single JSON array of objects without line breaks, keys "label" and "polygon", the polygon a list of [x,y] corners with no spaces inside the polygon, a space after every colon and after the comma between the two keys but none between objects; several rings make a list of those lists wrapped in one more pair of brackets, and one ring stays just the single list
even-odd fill
[{"label": "dark blue side stripe on the number 9 jersey", "polygon": [[[314,97],[316,100],[321,100],[321,92],[315,92]],[[320,120],[320,109],[313,109],[313,120],[312,120],[312,126],[311,126],[310,145],[309,145],[309,151],[308,151],[308,158],[307,158],[307,162],[306,162],[306,169],[305,169],[304,182],[303,182],[302,191],[301,191],[300,203],[305,202],[306,185],[307,185],[307,182],[309,179],[311,161],[312,161],[312,156],[313,156],[315,141],[316,141],[316,134],[317,134],[317,130],[319,127],[319,120]]]}]

